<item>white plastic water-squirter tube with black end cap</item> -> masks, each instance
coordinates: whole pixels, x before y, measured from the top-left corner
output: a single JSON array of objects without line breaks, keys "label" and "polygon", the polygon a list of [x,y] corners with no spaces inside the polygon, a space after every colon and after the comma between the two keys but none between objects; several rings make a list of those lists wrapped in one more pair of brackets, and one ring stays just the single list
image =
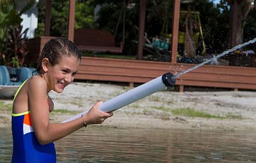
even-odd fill
[{"label": "white plastic water-squirter tube with black end cap", "polygon": [[[128,104],[134,103],[143,97],[147,97],[150,94],[164,90],[168,86],[174,85],[175,80],[172,79],[172,76],[173,75],[171,73],[163,74],[162,76],[159,76],[154,80],[150,80],[147,83],[140,85],[139,87],[125,92],[124,94],[120,94],[119,96],[113,97],[113,99],[109,99],[108,101],[102,103],[99,109],[104,112],[115,111]],[[86,110],[83,113],[79,113],[78,115],[63,121],[62,123],[70,122],[80,118],[81,115],[86,114],[88,111],[89,110]]]}]

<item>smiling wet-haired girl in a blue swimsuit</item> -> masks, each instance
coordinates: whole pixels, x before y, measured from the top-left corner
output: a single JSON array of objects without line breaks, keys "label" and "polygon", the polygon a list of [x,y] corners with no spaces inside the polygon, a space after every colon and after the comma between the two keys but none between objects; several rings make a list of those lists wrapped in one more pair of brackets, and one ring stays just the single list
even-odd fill
[{"label": "smiling wet-haired girl in a blue swimsuit", "polygon": [[47,94],[61,93],[74,80],[81,55],[76,45],[65,38],[48,41],[36,67],[37,75],[24,81],[13,99],[12,162],[56,162],[53,141],[61,139],[81,127],[102,124],[113,115],[99,110],[97,102],[81,118],[63,124],[51,124],[49,112],[54,104]]}]

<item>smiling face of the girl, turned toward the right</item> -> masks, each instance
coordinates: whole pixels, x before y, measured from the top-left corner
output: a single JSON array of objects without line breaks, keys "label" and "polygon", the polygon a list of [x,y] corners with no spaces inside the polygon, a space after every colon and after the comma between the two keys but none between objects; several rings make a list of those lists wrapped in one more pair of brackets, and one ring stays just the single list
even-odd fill
[{"label": "smiling face of the girl, turned toward the right", "polygon": [[61,93],[65,87],[74,80],[77,74],[80,60],[76,57],[61,57],[59,63],[51,66],[49,65],[47,71],[48,90]]}]

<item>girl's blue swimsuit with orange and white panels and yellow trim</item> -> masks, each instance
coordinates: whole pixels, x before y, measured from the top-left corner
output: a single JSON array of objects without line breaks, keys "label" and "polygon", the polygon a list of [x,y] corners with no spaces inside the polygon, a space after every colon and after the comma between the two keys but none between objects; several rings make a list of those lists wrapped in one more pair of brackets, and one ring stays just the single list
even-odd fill
[{"label": "girl's blue swimsuit with orange and white panels and yellow trim", "polygon": [[[17,90],[17,93],[24,83]],[[54,143],[47,145],[38,143],[31,124],[29,111],[12,114],[12,136],[12,162],[56,162]]]}]

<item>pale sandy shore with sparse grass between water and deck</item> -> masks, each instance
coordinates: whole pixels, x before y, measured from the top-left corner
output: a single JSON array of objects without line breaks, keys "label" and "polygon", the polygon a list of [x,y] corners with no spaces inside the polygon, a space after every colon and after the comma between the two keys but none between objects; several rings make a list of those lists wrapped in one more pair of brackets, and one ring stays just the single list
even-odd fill
[{"label": "pale sandy shore with sparse grass between water and deck", "polygon": [[[50,92],[55,111],[52,122],[62,122],[89,109],[95,101],[107,101],[131,89],[102,83],[72,83],[62,94]],[[10,127],[12,100],[0,100],[0,127]],[[180,109],[224,118],[176,115]],[[226,117],[226,118],[225,118]],[[256,129],[256,92],[157,92],[114,112],[106,127],[163,129],[252,130]]]}]

